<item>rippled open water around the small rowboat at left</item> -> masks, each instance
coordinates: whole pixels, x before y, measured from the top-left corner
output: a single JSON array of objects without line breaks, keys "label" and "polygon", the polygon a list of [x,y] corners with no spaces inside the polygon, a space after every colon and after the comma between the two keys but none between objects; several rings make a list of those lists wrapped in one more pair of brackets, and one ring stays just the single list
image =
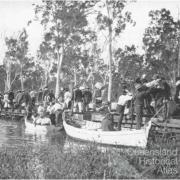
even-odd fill
[{"label": "rippled open water around the small rowboat at left", "polygon": [[23,120],[0,120],[0,146],[18,146],[21,144],[58,144],[63,146],[66,141],[67,138],[64,131],[49,135],[37,135],[26,132]]}]

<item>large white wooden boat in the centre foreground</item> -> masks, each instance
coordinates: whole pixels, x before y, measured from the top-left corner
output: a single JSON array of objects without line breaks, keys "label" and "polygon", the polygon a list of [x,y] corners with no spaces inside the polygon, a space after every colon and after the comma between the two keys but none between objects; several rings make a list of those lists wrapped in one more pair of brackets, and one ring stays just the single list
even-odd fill
[{"label": "large white wooden boat in the centre foreground", "polygon": [[[84,121],[84,123],[86,122],[88,121]],[[93,124],[94,122],[91,123]],[[123,129],[121,131],[102,131],[98,128],[98,126],[94,129],[87,128],[85,126],[84,128],[78,128],[69,125],[66,121],[63,121],[63,126],[67,135],[79,140],[91,141],[106,145],[123,145],[145,148],[147,145],[151,121],[146,125],[146,127],[140,130]]]}]

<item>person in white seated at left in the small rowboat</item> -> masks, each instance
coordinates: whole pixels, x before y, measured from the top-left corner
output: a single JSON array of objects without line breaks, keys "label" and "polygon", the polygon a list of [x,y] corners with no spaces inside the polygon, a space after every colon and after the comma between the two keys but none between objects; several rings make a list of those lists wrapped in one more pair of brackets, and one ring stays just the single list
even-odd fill
[{"label": "person in white seated at left in the small rowboat", "polygon": [[45,109],[43,106],[38,107],[38,116],[34,118],[33,123],[36,125],[51,125],[50,118],[45,116]]}]

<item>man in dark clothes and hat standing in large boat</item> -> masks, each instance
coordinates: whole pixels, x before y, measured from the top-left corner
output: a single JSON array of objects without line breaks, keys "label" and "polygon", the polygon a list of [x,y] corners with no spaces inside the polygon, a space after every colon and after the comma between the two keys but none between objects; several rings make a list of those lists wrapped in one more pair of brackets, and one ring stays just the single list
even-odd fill
[{"label": "man in dark clothes and hat standing in large boat", "polygon": [[142,116],[143,116],[143,108],[144,101],[151,92],[151,88],[147,88],[141,83],[135,84],[135,113],[136,113],[136,129],[141,129],[142,124]]}]

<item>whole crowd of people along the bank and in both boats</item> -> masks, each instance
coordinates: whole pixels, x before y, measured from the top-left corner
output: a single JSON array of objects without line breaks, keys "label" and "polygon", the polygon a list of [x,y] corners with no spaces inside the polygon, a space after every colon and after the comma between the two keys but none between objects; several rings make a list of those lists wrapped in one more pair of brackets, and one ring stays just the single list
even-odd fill
[{"label": "whole crowd of people along the bank and in both boats", "polygon": [[[32,115],[33,117],[39,117],[34,118],[36,124],[52,123],[58,125],[62,122],[62,112],[65,109],[78,113],[89,110],[102,110],[105,107],[102,100],[102,92],[105,87],[101,83],[96,83],[93,92],[86,85],[75,86],[72,91],[64,88],[61,89],[58,98],[55,98],[53,90],[49,90],[47,86],[39,91],[17,91],[16,93],[9,91],[4,95],[1,94],[0,105],[1,110],[25,108],[29,112],[29,118]],[[180,102],[180,78],[177,78],[174,97],[168,82],[158,75],[155,75],[149,82],[144,77],[137,78],[134,82],[134,88],[135,90],[132,90],[128,89],[127,86],[123,86],[122,93],[117,99],[118,130],[121,130],[125,115],[129,115],[130,118],[135,117],[136,129],[140,129],[144,114],[155,116],[161,107],[164,107],[164,104],[168,104],[167,102],[174,101],[176,104]],[[113,107],[109,106],[111,103],[107,104],[108,110],[113,111]],[[168,109],[168,106],[166,108]],[[171,108],[169,107],[169,109]],[[168,112],[166,111],[166,116],[169,115]],[[45,117],[48,117],[49,120],[45,120]],[[109,121],[112,122],[110,120],[112,116],[106,116],[105,119],[107,119],[107,123],[104,123],[104,121],[103,127],[107,130],[108,124],[111,124]]]}]

